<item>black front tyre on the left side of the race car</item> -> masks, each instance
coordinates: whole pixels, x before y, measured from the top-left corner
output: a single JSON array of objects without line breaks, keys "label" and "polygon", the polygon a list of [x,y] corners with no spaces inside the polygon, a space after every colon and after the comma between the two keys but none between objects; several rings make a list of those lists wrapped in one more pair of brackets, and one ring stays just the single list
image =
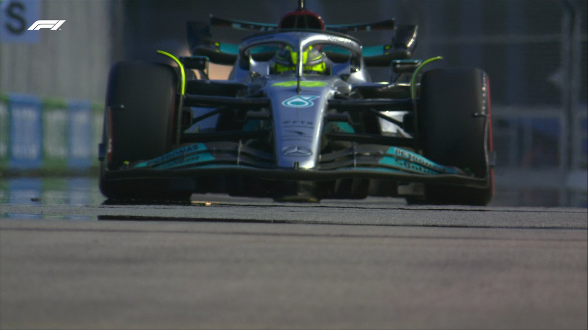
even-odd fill
[{"label": "black front tyre on the left side of the race car", "polygon": [[102,163],[100,189],[112,199],[187,199],[191,191],[175,180],[106,180],[104,170],[118,170],[137,160],[171,150],[175,132],[178,78],[168,65],[116,63],[108,78],[103,143],[110,146]]}]

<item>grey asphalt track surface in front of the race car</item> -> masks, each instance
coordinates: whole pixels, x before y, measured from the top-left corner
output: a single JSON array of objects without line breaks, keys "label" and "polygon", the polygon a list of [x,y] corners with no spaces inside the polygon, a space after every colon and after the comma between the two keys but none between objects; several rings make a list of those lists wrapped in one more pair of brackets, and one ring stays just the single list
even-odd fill
[{"label": "grey asphalt track surface in front of the race car", "polygon": [[1,205],[1,328],[587,328],[584,208]]}]

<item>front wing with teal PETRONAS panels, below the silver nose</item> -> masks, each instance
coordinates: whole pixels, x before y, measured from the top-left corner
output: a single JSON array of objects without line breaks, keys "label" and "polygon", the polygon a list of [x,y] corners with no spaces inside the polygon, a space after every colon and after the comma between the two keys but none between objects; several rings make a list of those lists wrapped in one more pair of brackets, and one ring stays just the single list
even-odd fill
[{"label": "front wing with teal PETRONAS panels, below the silver nose", "polygon": [[385,179],[477,188],[488,184],[486,179],[436,164],[412,151],[373,144],[322,154],[316,169],[280,168],[275,164],[272,153],[240,143],[195,143],[152,160],[105,171],[103,177],[106,180],[145,180],[243,175],[265,180]]}]

